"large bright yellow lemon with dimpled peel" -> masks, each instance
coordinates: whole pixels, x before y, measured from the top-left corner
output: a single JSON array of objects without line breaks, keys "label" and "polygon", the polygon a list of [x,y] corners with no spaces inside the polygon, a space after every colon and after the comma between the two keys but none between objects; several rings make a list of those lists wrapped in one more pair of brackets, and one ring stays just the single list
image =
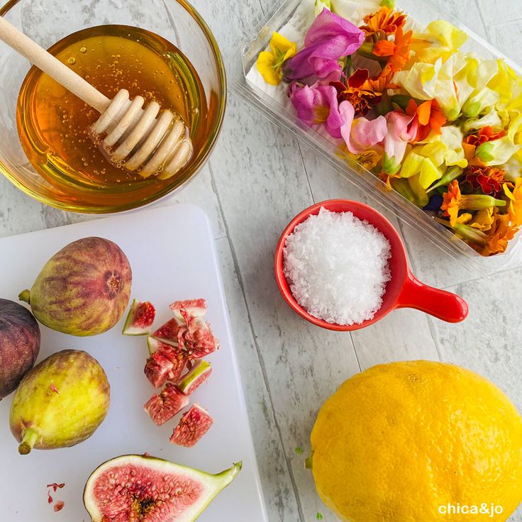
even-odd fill
[{"label": "large bright yellow lemon with dimpled peel", "polygon": [[350,522],[503,522],[522,500],[522,419],[504,393],[441,362],[348,379],[311,433],[316,489]]}]

